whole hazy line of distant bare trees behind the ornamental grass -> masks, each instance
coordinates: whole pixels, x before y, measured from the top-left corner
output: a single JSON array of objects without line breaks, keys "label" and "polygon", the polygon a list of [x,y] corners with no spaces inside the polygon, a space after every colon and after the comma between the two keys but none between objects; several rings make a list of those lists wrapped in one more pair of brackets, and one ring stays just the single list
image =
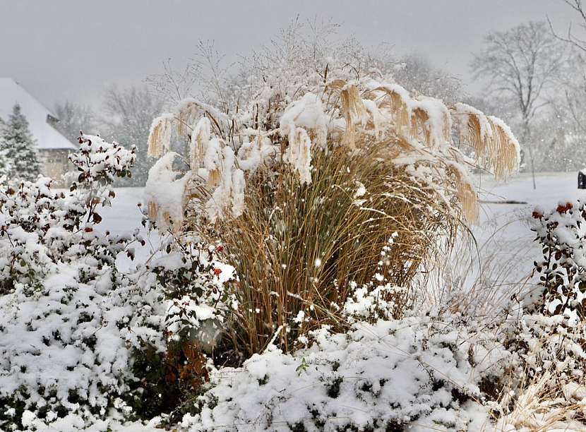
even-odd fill
[{"label": "whole hazy line of distant bare trees behind the ornamental grass", "polygon": [[[567,3],[580,16],[586,16],[580,0]],[[282,37],[287,38],[287,32]],[[381,65],[381,70],[393,70],[397,83],[415,95],[438,97],[448,105],[465,100],[501,117],[520,142],[522,169],[542,172],[586,167],[586,46],[571,32],[568,37],[560,37],[547,21],[489,32],[471,64],[474,78],[486,83],[476,95],[465,90],[460,78],[434,67],[424,56],[373,54],[352,46],[354,42],[348,43],[349,52],[369,57],[373,64]],[[327,44],[315,47],[316,52],[324,49],[328,49]],[[263,55],[255,52],[251,61],[270,60]],[[372,61],[373,56],[376,61]],[[162,74],[147,79],[147,86],[107,88],[100,109],[73,102],[57,104],[57,127],[72,141],[83,130],[100,132],[107,140],[127,147],[135,145],[133,176],[121,179],[117,186],[143,186],[154,163],[147,155],[150,124],[165,104],[196,96],[218,107],[227,106],[222,102],[230,98],[246,99],[243,96],[249,79],[227,76],[213,45],[200,43],[196,60],[184,69],[174,69],[167,62]]]}]

